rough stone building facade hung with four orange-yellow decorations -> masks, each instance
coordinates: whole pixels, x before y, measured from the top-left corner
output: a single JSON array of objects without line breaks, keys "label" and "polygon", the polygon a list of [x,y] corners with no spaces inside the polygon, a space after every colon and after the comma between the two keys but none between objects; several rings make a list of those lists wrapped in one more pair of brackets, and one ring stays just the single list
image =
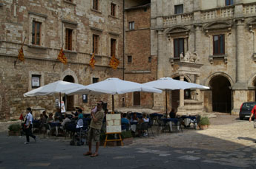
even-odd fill
[{"label": "rough stone building facade hung with four orange-yellow decorations", "polygon": [[[59,95],[23,97],[35,87],[56,80],[87,85],[108,77],[122,79],[122,2],[1,0],[0,120],[19,117],[27,106],[53,112]],[[17,60],[22,41],[24,62]],[[62,46],[67,64],[57,60]],[[95,69],[88,65],[93,52]],[[120,62],[116,70],[108,66],[113,52]],[[75,95],[65,101],[68,111],[74,106],[88,111],[99,97],[111,100],[108,95],[88,96],[83,103],[82,96]]]}]

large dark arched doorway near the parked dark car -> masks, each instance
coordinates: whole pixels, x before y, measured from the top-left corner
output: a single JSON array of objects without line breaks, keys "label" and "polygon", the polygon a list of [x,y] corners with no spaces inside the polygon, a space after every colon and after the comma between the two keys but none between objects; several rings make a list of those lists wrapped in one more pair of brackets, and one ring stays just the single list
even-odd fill
[{"label": "large dark arched doorway near the parked dark car", "polygon": [[211,79],[209,86],[212,92],[212,111],[230,113],[232,105],[232,92],[229,80],[221,75]]}]

